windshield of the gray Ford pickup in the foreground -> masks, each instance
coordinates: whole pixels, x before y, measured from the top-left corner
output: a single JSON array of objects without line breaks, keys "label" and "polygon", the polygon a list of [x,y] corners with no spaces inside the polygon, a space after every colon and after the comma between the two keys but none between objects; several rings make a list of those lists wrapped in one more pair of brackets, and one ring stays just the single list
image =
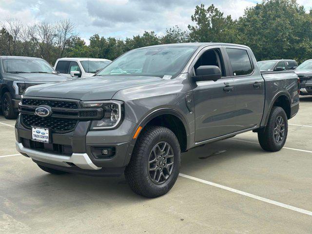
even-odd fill
[{"label": "windshield of the gray Ford pickup in the foreground", "polygon": [[102,75],[137,75],[172,78],[178,75],[197,47],[159,46],[132,50],[102,71]]}]

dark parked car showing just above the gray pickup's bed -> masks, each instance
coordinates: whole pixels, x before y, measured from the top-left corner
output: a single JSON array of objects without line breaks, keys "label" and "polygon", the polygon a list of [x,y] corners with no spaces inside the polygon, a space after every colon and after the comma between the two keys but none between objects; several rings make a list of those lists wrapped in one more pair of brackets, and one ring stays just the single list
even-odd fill
[{"label": "dark parked car showing just above the gray pickup's bed", "polygon": [[264,71],[285,71],[293,70],[298,64],[292,59],[276,59],[259,61],[258,66],[261,72]]}]

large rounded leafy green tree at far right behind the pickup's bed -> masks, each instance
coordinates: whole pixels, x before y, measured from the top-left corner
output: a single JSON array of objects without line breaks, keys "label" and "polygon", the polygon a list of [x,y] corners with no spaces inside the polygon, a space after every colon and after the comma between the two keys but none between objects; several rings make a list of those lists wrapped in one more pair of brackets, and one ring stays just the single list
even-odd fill
[{"label": "large rounded leafy green tree at far right behind the pickup's bed", "polygon": [[258,60],[312,57],[312,15],[296,0],[263,0],[238,20],[238,42]]}]

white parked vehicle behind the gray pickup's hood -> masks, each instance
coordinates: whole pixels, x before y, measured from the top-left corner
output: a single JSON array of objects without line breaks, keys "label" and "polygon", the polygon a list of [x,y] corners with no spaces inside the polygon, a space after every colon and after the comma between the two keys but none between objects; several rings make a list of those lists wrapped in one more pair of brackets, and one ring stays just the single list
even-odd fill
[{"label": "white parked vehicle behind the gray pickup's hood", "polygon": [[54,69],[68,78],[87,78],[110,63],[109,59],[62,58],[56,61]]}]

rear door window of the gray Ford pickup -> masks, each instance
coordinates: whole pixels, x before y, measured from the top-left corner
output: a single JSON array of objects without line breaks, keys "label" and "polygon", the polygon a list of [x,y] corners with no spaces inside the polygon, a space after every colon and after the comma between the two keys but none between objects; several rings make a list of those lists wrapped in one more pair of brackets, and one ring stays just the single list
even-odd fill
[{"label": "rear door window of the gray Ford pickup", "polygon": [[250,75],[253,72],[247,50],[226,48],[226,51],[230,58],[234,76]]}]

